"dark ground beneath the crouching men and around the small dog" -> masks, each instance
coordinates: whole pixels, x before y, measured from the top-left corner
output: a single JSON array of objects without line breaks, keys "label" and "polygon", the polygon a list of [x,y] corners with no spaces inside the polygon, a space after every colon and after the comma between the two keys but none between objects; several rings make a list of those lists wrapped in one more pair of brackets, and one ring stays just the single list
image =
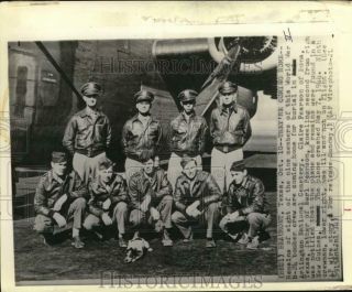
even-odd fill
[{"label": "dark ground beneath the crouching men and around the small dog", "polygon": [[[14,221],[15,281],[99,279],[101,272],[124,275],[200,275],[277,274],[276,263],[276,193],[267,193],[271,214],[267,229],[271,239],[257,250],[248,250],[221,236],[215,249],[206,249],[199,235],[190,244],[175,238],[174,247],[163,247],[158,238],[150,240],[154,251],[134,263],[124,263],[125,251],[113,238],[105,241],[85,239],[86,247],[77,250],[67,239],[45,246],[35,234],[33,218]],[[175,235],[177,235],[175,232]]]}]

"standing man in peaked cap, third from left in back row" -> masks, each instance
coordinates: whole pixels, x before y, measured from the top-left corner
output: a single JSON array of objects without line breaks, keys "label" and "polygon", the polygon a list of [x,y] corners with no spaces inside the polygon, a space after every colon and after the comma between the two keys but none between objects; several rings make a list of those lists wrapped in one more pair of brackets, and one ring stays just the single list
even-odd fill
[{"label": "standing man in peaked cap, third from left in back row", "polygon": [[173,190],[175,190],[176,180],[183,171],[180,161],[184,155],[194,158],[201,170],[201,154],[205,152],[208,127],[206,119],[195,112],[197,96],[198,93],[195,90],[183,90],[178,95],[178,100],[184,110],[170,122],[169,144],[172,155],[168,161],[167,177]]}]

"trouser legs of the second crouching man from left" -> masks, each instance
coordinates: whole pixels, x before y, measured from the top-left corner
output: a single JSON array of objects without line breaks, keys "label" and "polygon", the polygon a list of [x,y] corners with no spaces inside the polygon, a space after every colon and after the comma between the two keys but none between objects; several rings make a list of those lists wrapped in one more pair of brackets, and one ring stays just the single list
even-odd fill
[{"label": "trouser legs of the second crouching man from left", "polygon": [[[110,216],[112,224],[117,224],[120,235],[125,232],[125,223],[128,220],[128,204],[124,202],[119,202],[112,209]],[[103,226],[102,219],[94,214],[89,214],[86,219],[84,227],[87,230],[91,230],[94,227]]]}]

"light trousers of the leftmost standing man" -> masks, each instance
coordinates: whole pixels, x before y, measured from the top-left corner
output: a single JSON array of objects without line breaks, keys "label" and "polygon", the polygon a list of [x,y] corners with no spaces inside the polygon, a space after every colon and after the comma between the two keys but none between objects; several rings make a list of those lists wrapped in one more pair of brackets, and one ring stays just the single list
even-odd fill
[{"label": "light trousers of the leftmost standing man", "polygon": [[89,177],[96,177],[99,163],[106,158],[106,152],[102,152],[94,158],[87,155],[75,153],[73,159],[73,167],[78,173],[79,177],[85,184],[88,184]]}]

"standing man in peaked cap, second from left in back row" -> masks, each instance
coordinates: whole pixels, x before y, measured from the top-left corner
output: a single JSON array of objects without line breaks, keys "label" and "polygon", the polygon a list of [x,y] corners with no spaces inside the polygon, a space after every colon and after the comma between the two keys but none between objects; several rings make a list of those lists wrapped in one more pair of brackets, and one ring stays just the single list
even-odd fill
[{"label": "standing man in peaked cap, second from left in back row", "polygon": [[139,112],[125,122],[122,130],[128,185],[131,176],[143,167],[143,161],[158,153],[163,137],[160,121],[151,115],[154,95],[147,90],[141,90],[134,95],[134,98]]}]

